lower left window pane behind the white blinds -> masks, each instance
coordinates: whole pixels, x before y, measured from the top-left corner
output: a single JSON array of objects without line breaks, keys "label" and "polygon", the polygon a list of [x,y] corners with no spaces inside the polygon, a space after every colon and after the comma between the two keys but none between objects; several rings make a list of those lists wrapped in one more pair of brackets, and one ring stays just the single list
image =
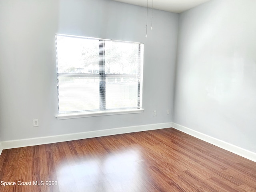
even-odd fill
[{"label": "lower left window pane behind the white blinds", "polygon": [[99,110],[98,77],[60,76],[58,79],[59,114]]}]

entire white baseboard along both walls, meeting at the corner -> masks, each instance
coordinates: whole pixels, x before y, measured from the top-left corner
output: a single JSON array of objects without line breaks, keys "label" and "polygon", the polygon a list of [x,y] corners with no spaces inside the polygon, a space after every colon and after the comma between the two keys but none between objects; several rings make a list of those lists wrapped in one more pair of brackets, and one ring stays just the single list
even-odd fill
[{"label": "entire white baseboard along both walls, meeting at the corner", "polygon": [[34,145],[41,145],[41,144],[50,144],[50,143],[57,143],[57,142],[65,142],[71,140],[79,140],[79,139],[86,139],[86,138],[94,138],[94,137],[101,137],[101,136],[109,136],[109,135],[116,135],[116,134],[124,134],[124,133],[131,133],[131,132],[140,132],[140,131],[148,131],[148,130],[157,130],[157,129],[164,129],[173,127],[176,130],[180,130],[186,134],[194,136],[200,140],[206,141],[210,144],[218,146],[222,149],[230,151],[234,154],[247,158],[256,162],[256,153],[251,152],[249,150],[240,148],[228,142],[224,142],[222,140],[213,138],[206,134],[197,132],[190,128],[184,127],[182,125],[176,123],[160,123],[160,124],[149,124],[149,125],[141,125],[141,126],[131,126],[131,127],[122,127],[122,128],[114,128],[114,129],[106,129],[106,130],[96,130],[96,131],[89,131],[89,132],[81,132],[81,133],[74,133],[74,134],[64,134],[64,135],[57,135],[57,136],[48,136],[48,137],[38,137],[38,138],[28,138],[22,140],[10,140],[10,141],[2,141],[0,142],[0,155],[2,150],[10,149],[10,148],[19,148],[19,147],[26,147],[26,146],[34,146]]}]

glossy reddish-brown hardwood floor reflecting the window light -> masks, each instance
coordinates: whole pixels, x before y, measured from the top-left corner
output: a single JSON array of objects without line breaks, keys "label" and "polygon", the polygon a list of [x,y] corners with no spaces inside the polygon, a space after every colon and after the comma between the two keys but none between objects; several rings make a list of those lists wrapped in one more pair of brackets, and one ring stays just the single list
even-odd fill
[{"label": "glossy reddish-brown hardwood floor reflecting the window light", "polygon": [[256,163],[167,128],[3,150],[0,191],[256,192]]}]

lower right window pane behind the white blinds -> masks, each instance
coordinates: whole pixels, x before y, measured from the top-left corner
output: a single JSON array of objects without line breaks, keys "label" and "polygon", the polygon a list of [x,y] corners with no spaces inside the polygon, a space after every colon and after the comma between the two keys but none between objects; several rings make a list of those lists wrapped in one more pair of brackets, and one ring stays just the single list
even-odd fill
[{"label": "lower right window pane behind the white blinds", "polygon": [[138,108],[138,78],[106,78],[106,110]]}]

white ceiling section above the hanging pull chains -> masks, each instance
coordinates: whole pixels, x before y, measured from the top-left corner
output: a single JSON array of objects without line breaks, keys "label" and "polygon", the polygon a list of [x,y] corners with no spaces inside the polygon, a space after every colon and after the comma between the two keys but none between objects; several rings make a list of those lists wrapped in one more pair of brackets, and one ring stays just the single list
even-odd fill
[{"label": "white ceiling section above the hanging pull chains", "polygon": [[[123,3],[147,7],[147,0],[114,0]],[[210,0],[153,0],[153,8],[163,11],[181,13]],[[152,0],[148,0],[148,7],[152,7]]]}]

